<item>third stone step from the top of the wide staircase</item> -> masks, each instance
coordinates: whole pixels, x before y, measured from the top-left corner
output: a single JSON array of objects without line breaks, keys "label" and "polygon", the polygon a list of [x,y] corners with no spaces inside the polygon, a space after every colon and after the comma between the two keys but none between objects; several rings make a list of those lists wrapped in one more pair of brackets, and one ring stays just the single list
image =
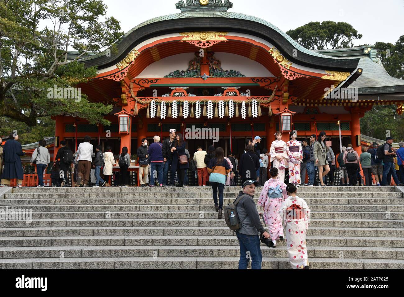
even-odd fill
[{"label": "third stone step from the top of the wide staircase", "polygon": [[[257,203],[258,198],[254,201]],[[316,205],[404,205],[402,198],[307,198],[307,204]],[[234,202],[234,199],[224,198],[223,205]],[[80,197],[69,199],[0,199],[1,206],[12,205],[213,205],[213,198],[92,198],[83,199]]]}]

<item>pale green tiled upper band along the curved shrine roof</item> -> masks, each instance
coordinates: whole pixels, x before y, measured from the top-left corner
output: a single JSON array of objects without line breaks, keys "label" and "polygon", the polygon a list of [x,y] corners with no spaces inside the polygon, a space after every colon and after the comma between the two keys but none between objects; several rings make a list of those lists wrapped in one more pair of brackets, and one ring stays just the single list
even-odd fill
[{"label": "pale green tiled upper band along the curved shrine roof", "polygon": [[[165,21],[165,20],[185,19],[185,18],[194,18],[194,17],[217,17],[217,18],[231,18],[231,19],[246,19],[246,20],[249,20],[249,21],[254,21],[254,22],[257,22],[257,23],[261,23],[261,24],[266,25],[266,26],[274,29],[275,31],[279,32],[282,36],[284,36],[284,38],[286,40],[288,40],[288,42],[290,44],[292,44],[295,48],[297,48],[299,51],[301,51],[303,53],[307,53],[309,55],[316,56],[316,57],[336,59],[336,57],[330,57],[328,55],[322,55],[321,53],[316,53],[314,51],[308,50],[307,48],[304,48],[303,46],[298,44],[295,40],[293,40],[288,34],[283,32],[281,29],[279,29],[275,25],[269,23],[268,21],[260,19],[259,17],[254,17],[252,15],[245,15],[243,13],[234,13],[234,12],[229,12],[229,11],[227,11],[227,12],[194,11],[194,12],[187,12],[187,13],[174,13],[174,14],[171,14],[171,15],[163,15],[161,17],[155,17],[153,19],[149,19],[147,21],[144,21],[143,23],[141,23],[141,24],[137,25],[136,27],[133,27],[132,29],[130,29],[128,32],[126,32],[126,34],[124,34],[122,36],[122,38],[120,40],[118,40],[118,42],[116,42],[116,44],[117,45],[120,44],[120,42],[122,42],[122,40],[124,40],[130,33],[132,33],[136,29],[139,29],[140,27],[143,27],[143,26],[145,26],[147,24],[156,23],[156,22]],[[104,56],[104,55],[106,55],[106,51],[103,51],[101,53],[97,53],[96,55],[86,57],[84,59],[80,59],[80,61],[84,62],[84,61],[95,59],[97,57],[101,57],[101,56]],[[337,59],[338,59],[338,57],[337,57]]]}]

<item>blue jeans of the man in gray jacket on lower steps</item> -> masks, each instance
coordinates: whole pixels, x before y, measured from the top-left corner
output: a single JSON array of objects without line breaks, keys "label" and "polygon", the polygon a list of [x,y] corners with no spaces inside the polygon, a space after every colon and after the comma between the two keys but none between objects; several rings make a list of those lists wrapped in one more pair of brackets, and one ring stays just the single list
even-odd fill
[{"label": "blue jeans of the man in gray jacket on lower steps", "polygon": [[238,261],[238,269],[247,269],[250,258],[252,258],[251,269],[261,269],[262,254],[259,236],[246,235],[238,232],[236,235],[238,242],[240,243],[240,260]]}]

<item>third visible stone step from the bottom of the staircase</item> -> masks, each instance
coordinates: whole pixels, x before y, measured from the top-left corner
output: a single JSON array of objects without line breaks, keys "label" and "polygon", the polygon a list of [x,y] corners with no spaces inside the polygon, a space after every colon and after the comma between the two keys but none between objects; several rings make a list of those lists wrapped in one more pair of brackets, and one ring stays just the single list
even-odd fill
[{"label": "third visible stone step from the bottom of the staircase", "polygon": [[[404,247],[402,237],[307,236],[307,246]],[[0,246],[236,245],[236,236],[40,236],[0,237]],[[285,245],[285,241],[277,243]],[[263,245],[263,244],[262,244]]]}]

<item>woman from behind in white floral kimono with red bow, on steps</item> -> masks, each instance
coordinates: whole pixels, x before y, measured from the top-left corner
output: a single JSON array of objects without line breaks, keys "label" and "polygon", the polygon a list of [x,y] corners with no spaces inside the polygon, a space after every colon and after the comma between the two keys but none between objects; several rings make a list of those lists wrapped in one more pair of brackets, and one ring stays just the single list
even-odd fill
[{"label": "woman from behind in white floral kimono with red bow, on steps", "polygon": [[279,213],[284,219],[289,262],[293,269],[309,269],[306,232],[309,228],[310,209],[306,201],[296,195],[295,185],[288,184],[286,191],[290,196],[282,203]]}]

